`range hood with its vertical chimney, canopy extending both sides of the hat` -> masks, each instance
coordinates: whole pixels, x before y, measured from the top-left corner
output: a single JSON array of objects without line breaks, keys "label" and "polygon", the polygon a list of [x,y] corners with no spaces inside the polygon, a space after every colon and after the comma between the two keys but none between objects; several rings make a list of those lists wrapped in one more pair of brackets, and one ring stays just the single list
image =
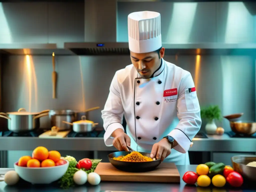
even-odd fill
[{"label": "range hood with its vertical chimney, canopy extending both sides of the hat", "polygon": [[[128,42],[116,42],[117,1],[120,0],[86,0],[84,42],[66,42],[64,48],[76,55],[129,55]],[[163,44],[163,47],[165,55],[253,55],[256,52],[256,44]]]}]

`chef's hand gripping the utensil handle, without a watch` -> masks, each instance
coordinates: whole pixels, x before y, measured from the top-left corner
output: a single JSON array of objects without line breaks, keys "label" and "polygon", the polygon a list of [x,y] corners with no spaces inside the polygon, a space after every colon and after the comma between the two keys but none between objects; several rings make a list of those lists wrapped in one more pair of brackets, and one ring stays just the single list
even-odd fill
[{"label": "chef's hand gripping the utensil handle, without a watch", "polygon": [[116,129],[112,133],[112,137],[114,137],[113,145],[115,148],[119,151],[129,151],[127,145],[131,145],[131,138],[122,129]]}]

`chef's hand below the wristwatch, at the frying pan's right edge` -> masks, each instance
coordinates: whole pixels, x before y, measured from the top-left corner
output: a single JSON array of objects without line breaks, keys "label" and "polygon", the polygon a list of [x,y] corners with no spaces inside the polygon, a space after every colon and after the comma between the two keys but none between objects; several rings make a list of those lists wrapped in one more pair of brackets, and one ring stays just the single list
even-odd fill
[{"label": "chef's hand below the wristwatch, at the frying pan's right edge", "polygon": [[171,154],[171,148],[172,145],[166,138],[163,138],[161,141],[153,145],[150,157],[155,157],[156,159],[164,161],[165,157]]}]

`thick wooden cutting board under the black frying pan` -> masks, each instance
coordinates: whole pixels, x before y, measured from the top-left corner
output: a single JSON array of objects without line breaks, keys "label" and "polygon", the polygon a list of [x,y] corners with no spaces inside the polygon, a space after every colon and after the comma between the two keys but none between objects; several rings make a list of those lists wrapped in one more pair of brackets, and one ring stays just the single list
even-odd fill
[{"label": "thick wooden cutting board under the black frying pan", "polygon": [[155,170],[144,173],[124,172],[116,169],[111,163],[99,163],[94,172],[100,175],[102,181],[180,182],[180,175],[174,163],[161,163]]}]

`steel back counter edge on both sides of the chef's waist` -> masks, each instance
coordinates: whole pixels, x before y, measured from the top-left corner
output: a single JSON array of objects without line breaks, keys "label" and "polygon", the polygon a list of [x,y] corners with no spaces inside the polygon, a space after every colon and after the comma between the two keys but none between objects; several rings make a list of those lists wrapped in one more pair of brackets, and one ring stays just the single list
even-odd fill
[{"label": "steel back counter edge on both sides of the chef's waist", "polygon": [[[194,138],[194,145],[189,151],[256,152],[256,138],[230,138],[226,134],[207,136],[208,138]],[[49,150],[116,151],[113,146],[105,146],[102,137],[0,137],[0,151],[32,151],[37,146],[45,146]]]}]

